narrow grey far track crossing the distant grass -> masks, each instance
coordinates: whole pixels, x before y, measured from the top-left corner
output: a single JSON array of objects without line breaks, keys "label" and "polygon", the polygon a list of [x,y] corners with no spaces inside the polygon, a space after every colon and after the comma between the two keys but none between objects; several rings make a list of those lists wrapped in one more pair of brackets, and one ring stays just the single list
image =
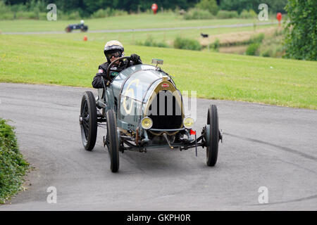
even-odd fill
[{"label": "narrow grey far track crossing the distant grass", "polygon": [[[278,22],[257,23],[257,26],[273,25]],[[232,25],[211,25],[197,27],[163,27],[163,28],[139,28],[139,29],[118,29],[118,30],[88,30],[87,33],[123,33],[123,32],[151,32],[151,31],[166,31],[166,30],[192,30],[192,29],[216,29],[226,27],[253,27],[254,23],[232,24]],[[80,33],[79,30],[73,30],[73,33]],[[43,32],[3,32],[2,34],[65,34],[65,31],[43,31]]]}]

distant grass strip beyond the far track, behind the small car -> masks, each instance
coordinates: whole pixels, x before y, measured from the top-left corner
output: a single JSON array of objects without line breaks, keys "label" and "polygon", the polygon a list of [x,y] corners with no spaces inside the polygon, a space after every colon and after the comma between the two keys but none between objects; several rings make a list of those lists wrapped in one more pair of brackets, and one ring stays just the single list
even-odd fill
[{"label": "distant grass strip beyond the far track, behind the small car", "polygon": [[[64,31],[69,24],[79,23],[79,20],[0,20],[2,32],[42,32]],[[118,30],[161,27],[199,27],[209,25],[233,25],[243,23],[260,23],[253,19],[225,20],[183,20],[174,13],[121,15],[108,18],[87,19],[85,24],[89,30]]]}]

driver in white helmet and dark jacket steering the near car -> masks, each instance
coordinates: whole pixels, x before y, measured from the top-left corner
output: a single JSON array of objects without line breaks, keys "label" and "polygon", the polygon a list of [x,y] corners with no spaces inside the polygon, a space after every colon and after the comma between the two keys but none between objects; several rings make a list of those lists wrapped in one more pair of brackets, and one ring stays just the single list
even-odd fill
[{"label": "driver in white helmet and dark jacket steering the near car", "polygon": [[[92,81],[92,86],[95,89],[103,88],[102,79],[104,79],[104,84],[108,85],[111,81],[106,77],[106,72],[110,63],[114,60],[124,56],[124,48],[123,45],[116,40],[108,41],[104,46],[104,55],[106,56],[107,62],[99,65],[98,72],[96,76],[94,76],[94,80]],[[115,64],[112,65],[111,68],[114,70],[124,70],[125,65],[127,65],[128,60],[118,60]],[[132,54],[130,56],[130,65],[142,64],[141,58],[137,56],[137,54]],[[110,76],[116,77],[118,72],[111,72]]]}]

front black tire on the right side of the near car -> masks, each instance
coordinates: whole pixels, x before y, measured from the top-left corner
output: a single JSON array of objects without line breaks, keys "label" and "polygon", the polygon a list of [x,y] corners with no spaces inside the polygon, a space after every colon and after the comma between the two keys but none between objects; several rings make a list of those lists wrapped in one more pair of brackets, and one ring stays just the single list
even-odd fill
[{"label": "front black tire on the right side of the near car", "polygon": [[207,165],[213,167],[216,165],[218,158],[218,143],[219,143],[219,124],[218,112],[216,105],[211,105],[208,109],[207,124],[210,125],[209,141],[207,145]]}]

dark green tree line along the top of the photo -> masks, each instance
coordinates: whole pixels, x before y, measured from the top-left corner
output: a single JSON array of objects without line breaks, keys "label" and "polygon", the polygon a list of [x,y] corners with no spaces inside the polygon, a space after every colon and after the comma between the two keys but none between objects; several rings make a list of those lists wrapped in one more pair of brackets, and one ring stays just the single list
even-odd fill
[{"label": "dark green tree line along the top of the photo", "polygon": [[47,4],[54,3],[59,10],[63,12],[78,11],[80,15],[87,16],[98,11],[101,8],[113,8],[118,10],[127,11],[128,13],[137,13],[139,11],[147,11],[151,9],[151,5],[156,3],[159,6],[159,10],[183,8],[193,8],[200,1],[216,2],[220,10],[225,11],[237,11],[241,13],[244,9],[253,9],[258,11],[259,4],[268,4],[270,13],[281,12],[285,13],[285,6],[287,0],[3,0],[6,5],[14,6],[26,6],[32,10],[32,6],[46,6]]}]

